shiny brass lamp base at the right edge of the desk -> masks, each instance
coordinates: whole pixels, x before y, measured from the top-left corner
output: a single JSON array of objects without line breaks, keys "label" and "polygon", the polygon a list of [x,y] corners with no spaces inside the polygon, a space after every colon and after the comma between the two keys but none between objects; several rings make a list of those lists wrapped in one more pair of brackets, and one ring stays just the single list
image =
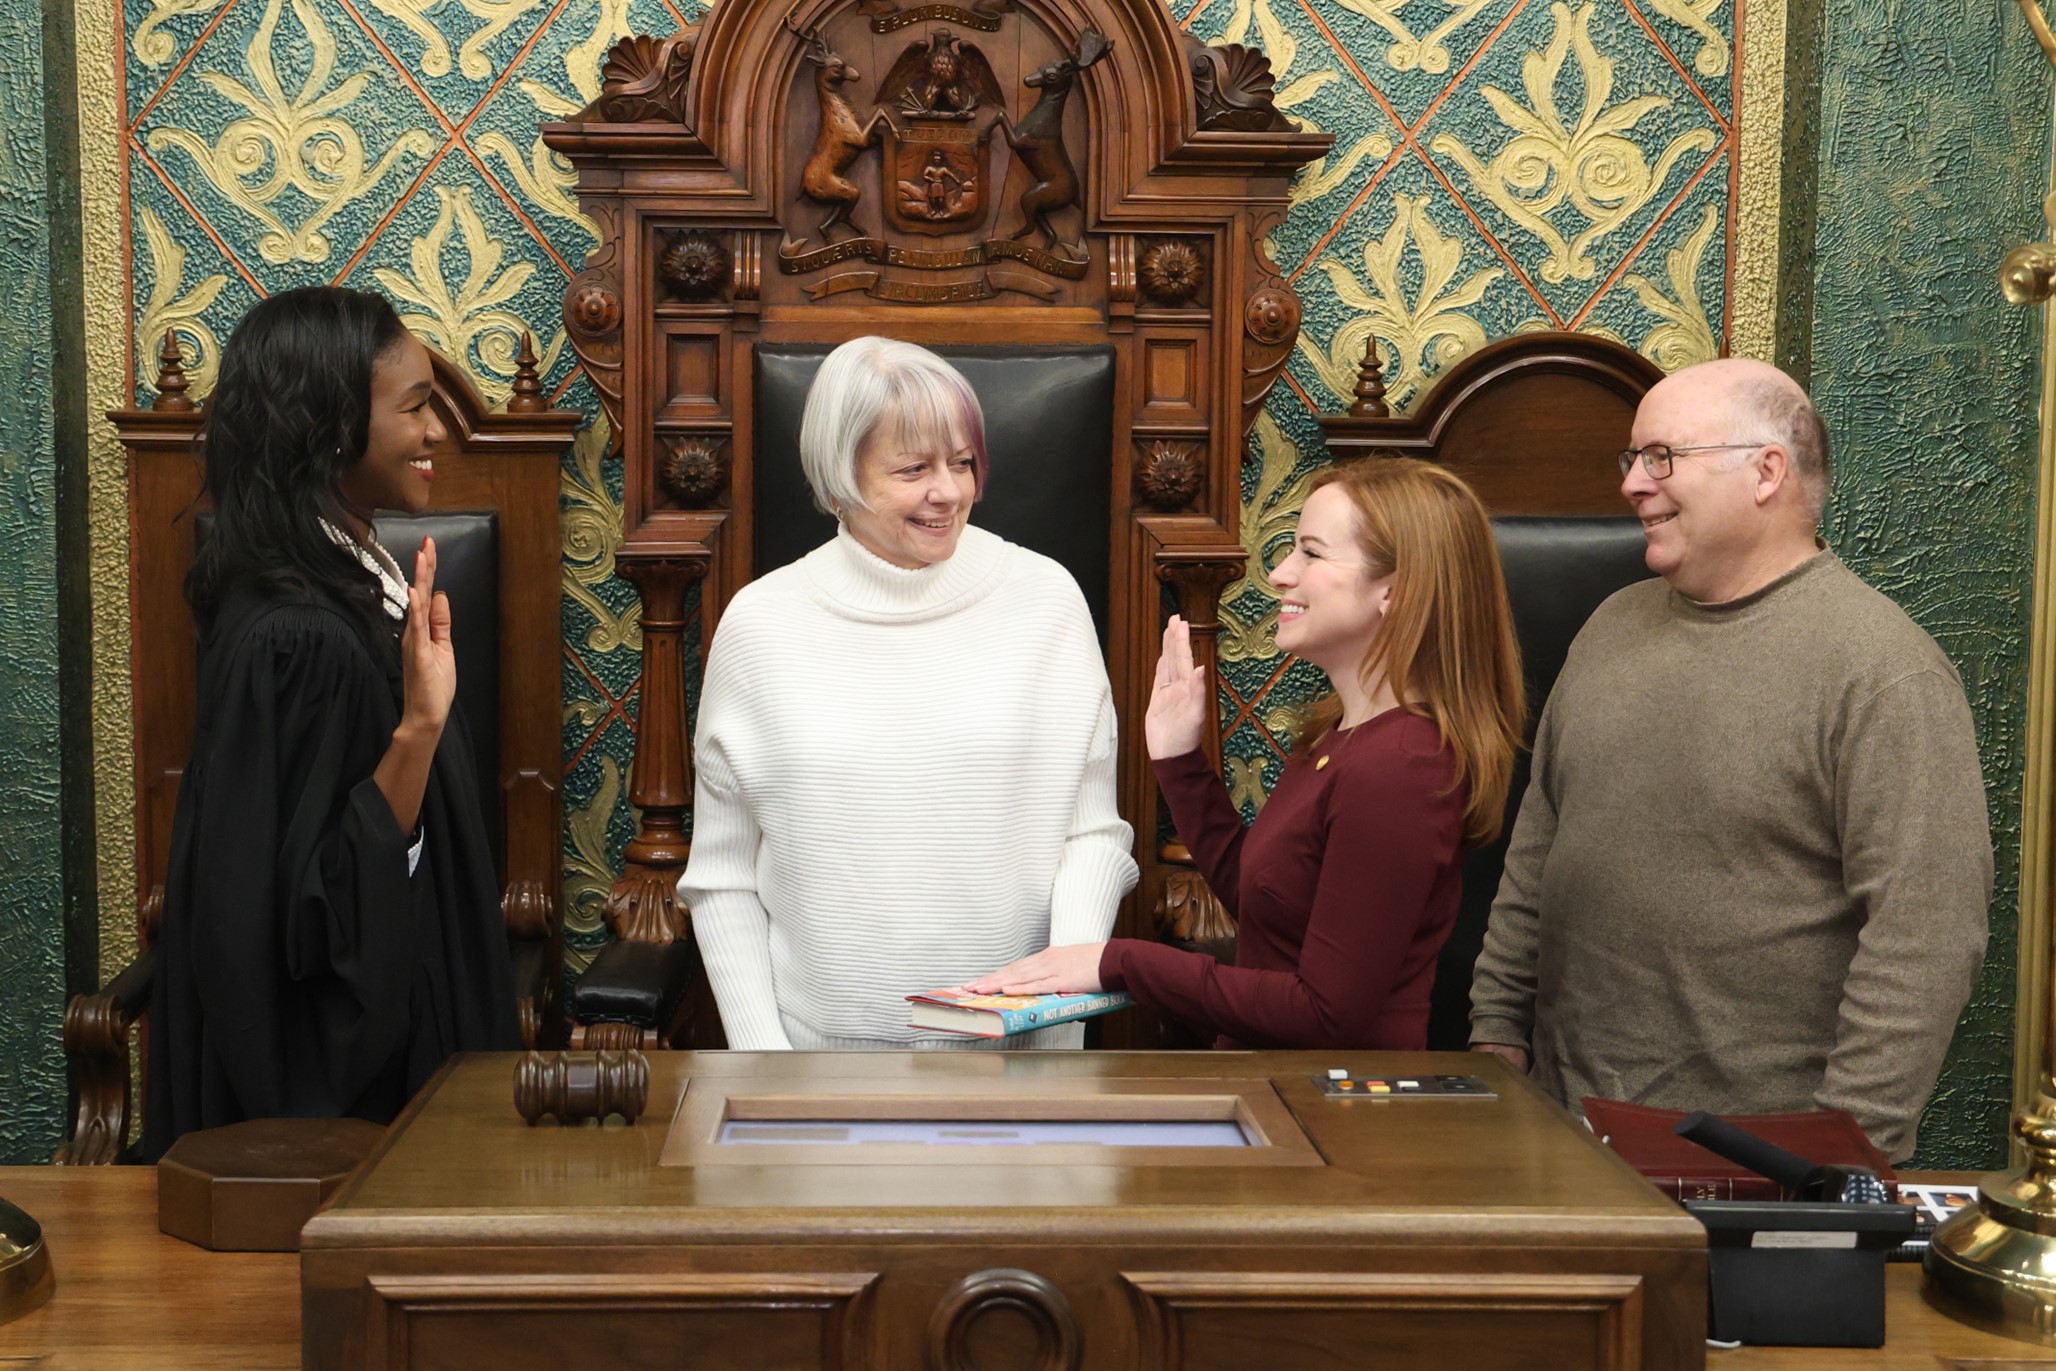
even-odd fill
[{"label": "shiny brass lamp base at the right edge of the desk", "polygon": [[2027,1165],[1980,1180],[1978,1205],[1935,1229],[1922,1266],[1943,1313],[2056,1346],[2056,1118],[2044,1110],[2013,1122]]}]

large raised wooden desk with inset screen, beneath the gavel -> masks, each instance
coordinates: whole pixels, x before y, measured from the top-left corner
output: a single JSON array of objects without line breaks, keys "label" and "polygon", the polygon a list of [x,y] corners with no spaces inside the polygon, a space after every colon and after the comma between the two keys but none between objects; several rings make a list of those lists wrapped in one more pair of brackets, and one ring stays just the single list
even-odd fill
[{"label": "large raised wooden desk with inset screen, beneath the gavel", "polygon": [[[1328,1100],[1478,1073],[1497,1098]],[[448,1067],[302,1235],[308,1371],[1696,1371],[1704,1231],[1484,1054],[656,1052],[635,1128]],[[1240,1112],[1258,1145],[777,1143]],[[1026,1112],[1014,1112],[1026,1110]],[[1209,1112],[1211,1110],[1211,1112]],[[722,1120],[748,1141],[718,1143]],[[676,1122],[674,1122],[676,1120]],[[683,1357],[683,1361],[681,1361]]]}]

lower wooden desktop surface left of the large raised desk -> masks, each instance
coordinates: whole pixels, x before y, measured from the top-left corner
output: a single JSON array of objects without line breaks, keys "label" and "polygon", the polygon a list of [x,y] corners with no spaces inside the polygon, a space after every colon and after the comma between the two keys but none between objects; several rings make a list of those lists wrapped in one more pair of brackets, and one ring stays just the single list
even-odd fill
[{"label": "lower wooden desktop surface left of the large raised desk", "polygon": [[0,1371],[290,1371],[300,1264],[201,1252],[156,1231],[156,1170],[0,1168],[0,1196],[43,1225],[49,1303],[0,1326]]}]

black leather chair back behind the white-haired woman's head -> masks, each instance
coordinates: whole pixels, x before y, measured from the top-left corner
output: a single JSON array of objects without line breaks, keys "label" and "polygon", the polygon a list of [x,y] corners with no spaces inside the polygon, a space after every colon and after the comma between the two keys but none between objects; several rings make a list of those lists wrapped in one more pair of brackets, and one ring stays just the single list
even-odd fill
[{"label": "black leather chair back behind the white-haired woman's head", "polygon": [[[755,576],[835,536],[800,471],[800,415],[829,345],[759,343]],[[1106,643],[1112,347],[935,347],[985,409],[991,473],[972,522],[1053,557]]]}]

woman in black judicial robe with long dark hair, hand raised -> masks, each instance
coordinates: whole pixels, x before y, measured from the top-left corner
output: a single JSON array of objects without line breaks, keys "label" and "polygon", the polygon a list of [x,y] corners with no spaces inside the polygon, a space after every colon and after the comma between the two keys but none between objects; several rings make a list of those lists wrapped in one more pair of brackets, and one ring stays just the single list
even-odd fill
[{"label": "woman in black judicial robe with long dark hair, hand raised", "polygon": [[450,1052],[518,1046],[434,543],[407,584],[370,532],[428,506],[430,384],[354,290],[273,296],[222,349],[146,1157],[243,1118],[387,1122]]}]

